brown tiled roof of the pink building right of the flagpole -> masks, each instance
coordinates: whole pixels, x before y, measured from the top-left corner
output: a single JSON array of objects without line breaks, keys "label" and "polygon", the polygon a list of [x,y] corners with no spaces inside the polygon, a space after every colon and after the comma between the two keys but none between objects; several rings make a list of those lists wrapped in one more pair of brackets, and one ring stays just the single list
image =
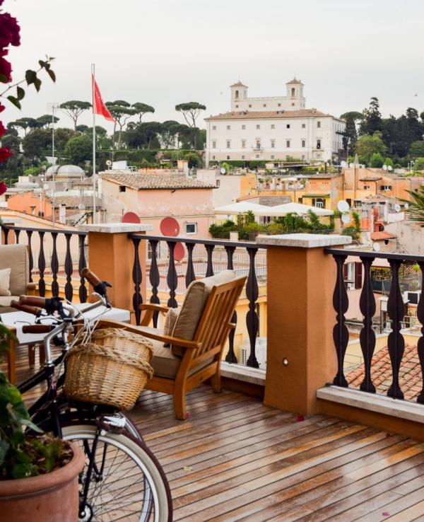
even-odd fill
[{"label": "brown tiled roof of the pink building right of the flagpole", "polygon": [[99,173],[100,178],[119,185],[125,185],[136,190],[166,190],[166,189],[212,189],[215,185],[192,180],[184,175],[159,173]]}]

